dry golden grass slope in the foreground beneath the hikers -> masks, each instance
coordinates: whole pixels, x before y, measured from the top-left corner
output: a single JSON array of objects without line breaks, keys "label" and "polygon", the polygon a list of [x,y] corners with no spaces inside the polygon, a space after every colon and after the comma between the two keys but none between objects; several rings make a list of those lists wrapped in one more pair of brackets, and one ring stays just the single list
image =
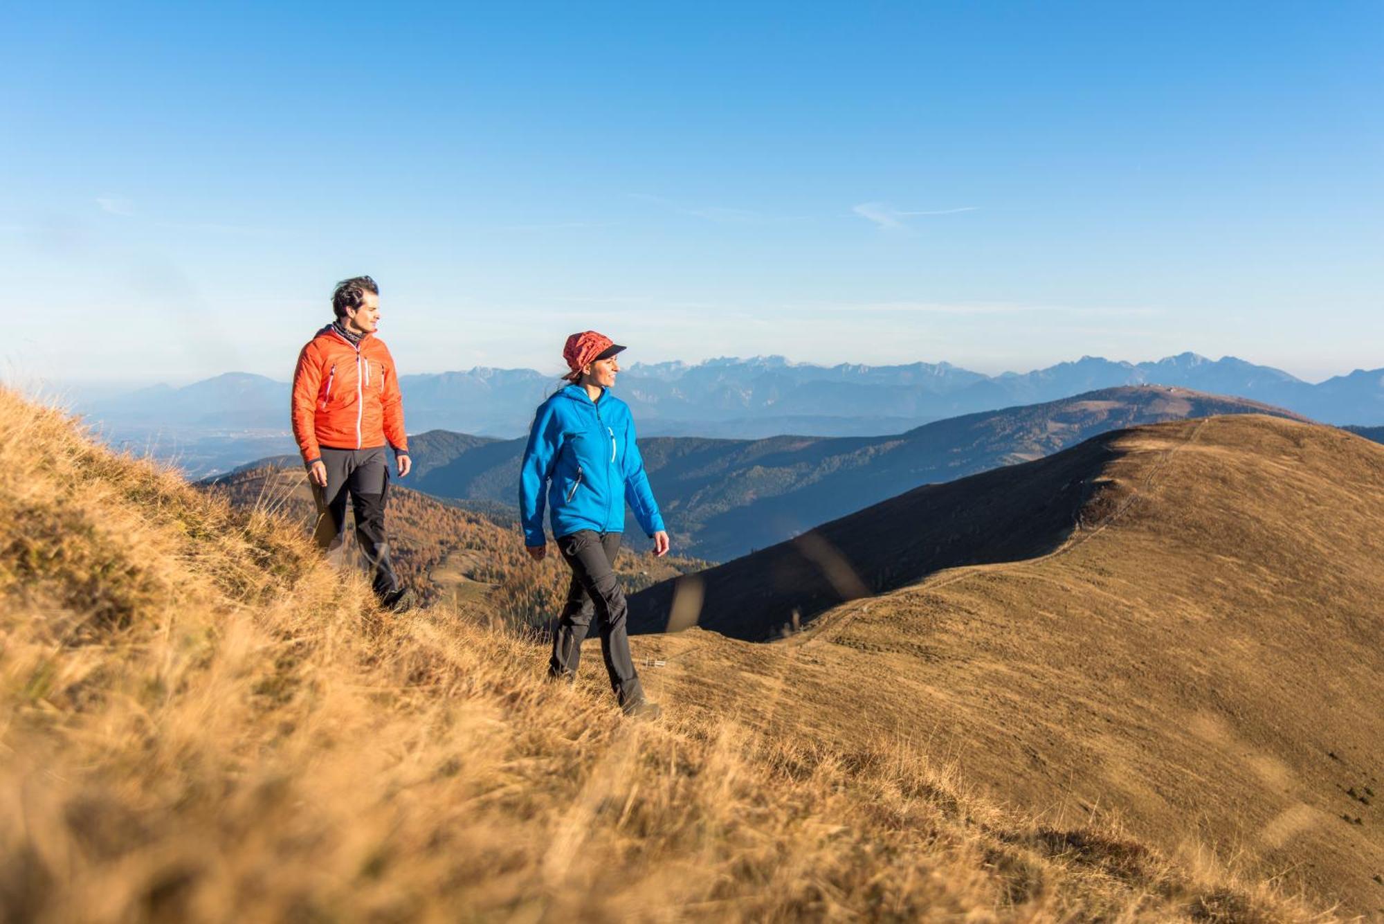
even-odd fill
[{"label": "dry golden grass slope in the foreground beneath the hikers", "polygon": [[296,526],[57,412],[0,393],[0,918],[1318,920],[987,806],[895,737],[671,686],[623,721],[595,671],[381,614]]}]

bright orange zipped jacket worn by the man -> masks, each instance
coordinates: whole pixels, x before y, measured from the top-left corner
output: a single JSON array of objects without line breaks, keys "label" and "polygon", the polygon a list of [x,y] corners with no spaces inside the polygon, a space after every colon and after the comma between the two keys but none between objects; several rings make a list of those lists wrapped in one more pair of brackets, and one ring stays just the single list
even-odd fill
[{"label": "bright orange zipped jacket worn by the man", "polygon": [[311,465],[331,450],[388,443],[408,452],[404,396],[385,343],[367,333],[360,346],[327,325],[298,354],[293,369],[293,437]]}]

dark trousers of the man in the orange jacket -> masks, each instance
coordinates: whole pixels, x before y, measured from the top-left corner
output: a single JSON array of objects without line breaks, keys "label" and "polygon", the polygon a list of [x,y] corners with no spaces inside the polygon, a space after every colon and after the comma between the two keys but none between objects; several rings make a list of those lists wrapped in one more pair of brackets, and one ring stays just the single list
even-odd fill
[{"label": "dark trousers of the man in the orange jacket", "polygon": [[[389,458],[385,447],[370,450],[321,448],[327,466],[327,487],[313,484],[317,501],[317,528],[313,539],[327,552],[327,560],[340,569],[346,556],[346,499],[356,510],[356,539],[371,571],[375,596],[399,589],[385,537],[385,499],[389,497]],[[311,480],[309,480],[311,484]]]}]

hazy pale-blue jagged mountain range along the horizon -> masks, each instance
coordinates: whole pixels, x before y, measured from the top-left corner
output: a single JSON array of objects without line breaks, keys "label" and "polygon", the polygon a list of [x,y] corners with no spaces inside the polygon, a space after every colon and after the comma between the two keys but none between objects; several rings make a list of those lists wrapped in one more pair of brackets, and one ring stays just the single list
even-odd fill
[{"label": "hazy pale-blue jagged mountain range along the horizon", "polygon": [[[534,407],[561,382],[533,369],[475,368],[406,375],[400,385],[411,432],[518,437],[531,422]],[[634,409],[642,436],[761,438],[901,433],[962,414],[1138,385],[1232,394],[1326,423],[1384,425],[1384,368],[1311,385],[1280,369],[1235,357],[1212,361],[1194,353],[1157,362],[1082,357],[998,376],[947,362],[821,367],[757,357],[696,365],[635,364],[621,373],[617,389]],[[185,441],[234,430],[286,436],[288,383],[228,372],[181,389],[155,386],[89,401],[76,409],[127,440],[165,434]]]}]

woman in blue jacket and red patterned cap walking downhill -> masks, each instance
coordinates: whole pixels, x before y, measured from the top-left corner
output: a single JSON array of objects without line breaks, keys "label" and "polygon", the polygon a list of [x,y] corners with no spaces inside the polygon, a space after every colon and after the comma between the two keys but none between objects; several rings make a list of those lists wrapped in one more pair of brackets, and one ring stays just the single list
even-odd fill
[{"label": "woman in blue jacket and red patterned cap walking downhill", "polygon": [[630,657],[624,591],[614,575],[614,556],[624,533],[624,505],[653,539],[655,555],[668,551],[668,534],[644,472],[630,405],[610,394],[624,350],[610,338],[584,331],[567,338],[562,358],[570,382],[541,405],[533,419],[519,473],[519,510],[525,546],[543,559],[548,542],[543,508],[548,506],[558,552],[572,567],[567,602],[558,618],[548,671],[569,683],[577,674],[581,640],[598,618],[601,654],[620,707],[653,717],[659,707],[644,696]]}]

